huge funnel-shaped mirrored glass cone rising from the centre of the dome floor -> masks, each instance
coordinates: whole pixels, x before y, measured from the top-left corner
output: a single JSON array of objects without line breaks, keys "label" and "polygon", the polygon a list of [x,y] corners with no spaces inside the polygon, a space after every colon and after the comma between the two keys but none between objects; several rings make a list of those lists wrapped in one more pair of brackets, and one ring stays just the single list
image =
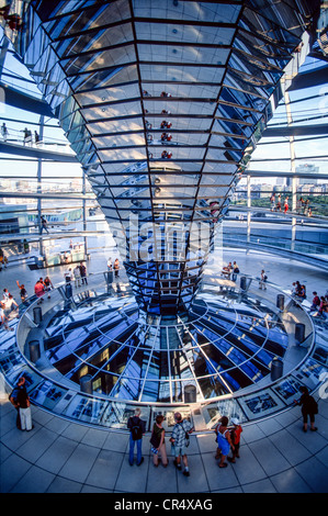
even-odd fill
[{"label": "huge funnel-shaped mirrored glass cone rising from the centre of the dome floor", "polygon": [[[281,94],[283,70],[316,5],[170,0],[79,2],[77,9],[67,2],[9,5],[22,25],[5,26],[7,35],[60,120],[106,220],[120,223],[140,309],[173,316],[188,311],[245,148],[270,119],[272,94]],[[174,145],[156,142],[162,110],[170,111]],[[163,148],[173,153],[171,159],[160,158]],[[152,224],[137,243],[129,233],[132,211],[138,235]],[[210,235],[199,248],[195,221]],[[177,222],[180,255],[176,249],[163,260],[163,246],[177,243],[158,235]],[[146,261],[139,257],[145,239],[151,248]]]}]

